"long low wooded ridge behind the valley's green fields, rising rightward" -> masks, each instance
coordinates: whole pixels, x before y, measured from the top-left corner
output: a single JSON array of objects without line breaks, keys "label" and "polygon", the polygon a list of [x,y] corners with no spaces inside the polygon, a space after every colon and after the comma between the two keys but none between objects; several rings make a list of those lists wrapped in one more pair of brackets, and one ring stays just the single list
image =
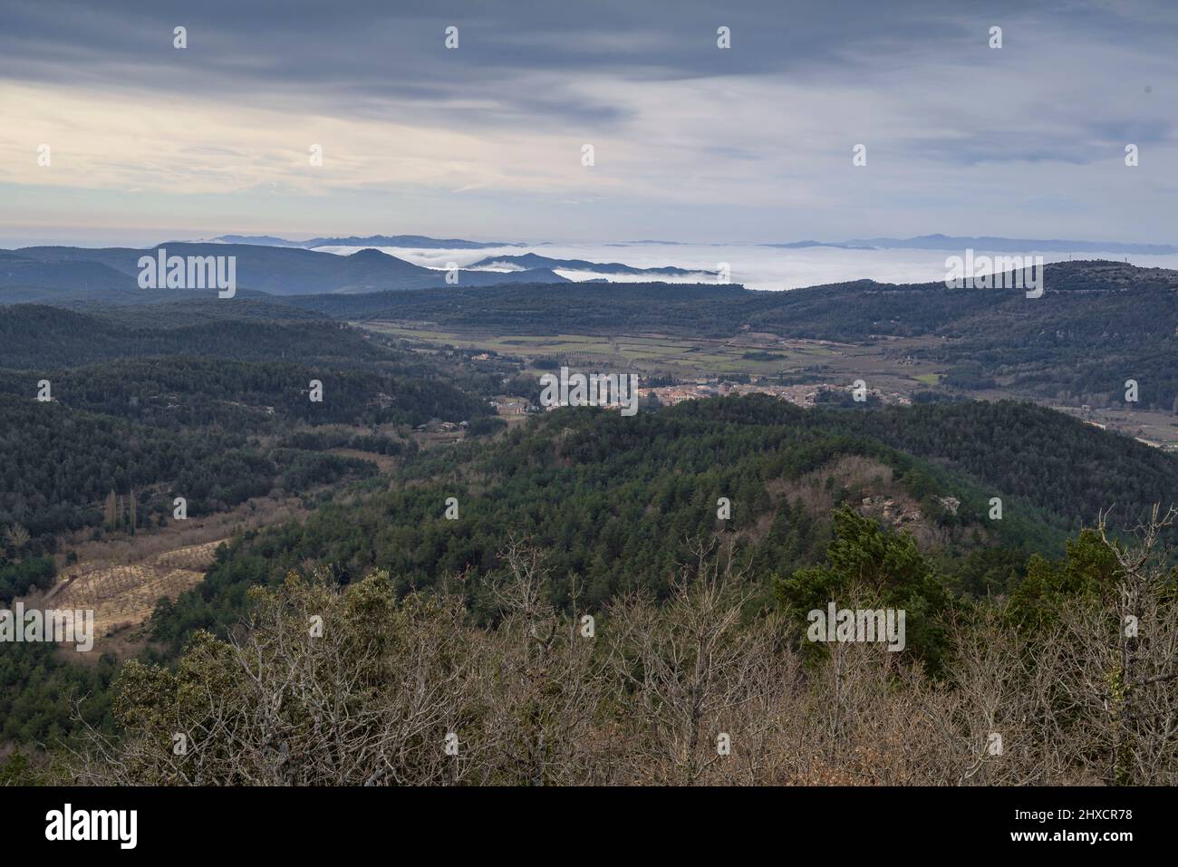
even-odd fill
[{"label": "long low wooded ridge behind the valley's green fields, rising rightward", "polygon": [[[1091,311],[1121,310],[1123,325],[1154,338],[1173,336],[1178,271],[1111,262],[1068,262],[1045,267],[1043,298],[1021,290],[946,289],[944,283],[889,284],[874,280],[757,292],[736,285],[602,284],[558,286],[449,286],[415,292],[349,297],[312,294],[285,299],[306,310],[345,319],[406,319],[499,333],[616,333],[662,331],[723,337],[744,326],[782,337],[863,340],[879,336],[955,333],[954,323],[998,317],[982,333],[1005,327],[1014,313],[1039,329]],[[1157,317],[1162,317],[1160,320]],[[979,322],[977,317],[981,317]],[[1085,329],[1090,337],[1104,319]]]}]

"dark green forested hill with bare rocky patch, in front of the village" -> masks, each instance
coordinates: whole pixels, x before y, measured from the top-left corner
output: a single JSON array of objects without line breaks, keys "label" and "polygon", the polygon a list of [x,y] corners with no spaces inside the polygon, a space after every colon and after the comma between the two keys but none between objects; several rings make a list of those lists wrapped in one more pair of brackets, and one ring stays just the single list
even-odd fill
[{"label": "dark green forested hill with bare rocky patch, in front of the village", "polygon": [[[768,582],[821,557],[840,503],[915,532],[948,585],[1004,591],[1032,551],[1058,556],[1067,532],[1097,522],[1112,505],[1101,491],[1129,523],[1178,492],[1178,459],[1033,405],[805,411],[765,396],[630,418],[561,410],[492,442],[419,454],[403,474],[305,524],[238,540],[198,590],[161,609],[158,635],[179,642],[234,622],[246,585],[307,561],[344,581],[388,568],[404,590],[496,568],[512,535],[549,549],[563,593],[577,576],[590,604],[660,594],[689,542],[716,532]],[[717,519],[721,497],[729,519]]]}]

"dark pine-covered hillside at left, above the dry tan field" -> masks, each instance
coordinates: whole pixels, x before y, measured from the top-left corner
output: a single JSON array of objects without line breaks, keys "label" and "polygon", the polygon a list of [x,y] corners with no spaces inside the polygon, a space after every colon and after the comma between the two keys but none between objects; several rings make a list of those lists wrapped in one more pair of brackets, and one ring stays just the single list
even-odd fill
[{"label": "dark pine-covered hillside at left, above the dry tan field", "polygon": [[[231,318],[241,309],[250,312]],[[326,449],[416,448],[376,426],[492,415],[481,395],[488,379],[499,382],[494,372],[398,350],[342,323],[267,312],[236,302],[0,310],[0,532],[21,528],[31,536],[25,552],[40,555],[58,551],[62,534],[100,532],[112,492],[138,497],[132,529],[171,515],[167,491],[185,496],[192,515],[271,491],[303,494],[376,471]],[[322,401],[311,399],[315,380]],[[346,430],[302,430],[322,425]],[[0,569],[4,557],[0,549]]]}]

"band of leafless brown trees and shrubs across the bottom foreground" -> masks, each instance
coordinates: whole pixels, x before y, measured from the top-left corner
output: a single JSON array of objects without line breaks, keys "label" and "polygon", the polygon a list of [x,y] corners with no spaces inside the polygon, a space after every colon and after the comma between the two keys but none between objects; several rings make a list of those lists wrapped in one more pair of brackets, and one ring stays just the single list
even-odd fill
[{"label": "band of leafless brown trees and shrubs across the bottom foreground", "polygon": [[[1001,601],[946,626],[947,674],[882,642],[800,653],[753,604],[733,542],[699,544],[669,595],[562,604],[544,554],[512,540],[472,622],[468,576],[398,598],[375,573],[309,568],[252,590],[229,638],[174,670],[127,663],[117,740],[68,780],[150,785],[1173,785],[1178,573],[1104,535],[1118,569],[1033,631]],[[1104,524],[1101,523],[1101,534]],[[852,605],[874,605],[849,588]],[[483,609],[479,609],[483,610]]]}]

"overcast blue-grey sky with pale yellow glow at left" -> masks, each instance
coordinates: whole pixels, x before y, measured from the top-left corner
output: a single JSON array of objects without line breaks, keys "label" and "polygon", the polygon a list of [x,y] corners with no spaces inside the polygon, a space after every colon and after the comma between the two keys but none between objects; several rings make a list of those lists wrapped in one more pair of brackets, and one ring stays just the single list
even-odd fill
[{"label": "overcast blue-grey sky with pale yellow glow at left", "polygon": [[0,0],[0,244],[1174,243],[1176,45],[1170,0]]}]

